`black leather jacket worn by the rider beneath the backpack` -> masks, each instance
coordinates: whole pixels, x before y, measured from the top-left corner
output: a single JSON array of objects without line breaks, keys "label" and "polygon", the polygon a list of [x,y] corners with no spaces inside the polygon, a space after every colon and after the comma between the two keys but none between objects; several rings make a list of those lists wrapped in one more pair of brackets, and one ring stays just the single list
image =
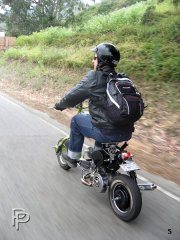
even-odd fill
[{"label": "black leather jacket worn by the rider beneath the backpack", "polygon": [[[109,73],[115,73],[111,67],[106,67],[102,71],[89,71],[84,79],[71,89],[65,96],[56,104],[58,109],[74,107],[78,103],[89,99],[89,113],[92,117],[92,124],[100,129],[117,129],[109,123],[104,113],[106,108],[106,85],[107,76]],[[133,132],[134,127],[118,128],[120,132]],[[118,133],[120,133],[118,132]],[[117,133],[117,132],[116,132]]]}]

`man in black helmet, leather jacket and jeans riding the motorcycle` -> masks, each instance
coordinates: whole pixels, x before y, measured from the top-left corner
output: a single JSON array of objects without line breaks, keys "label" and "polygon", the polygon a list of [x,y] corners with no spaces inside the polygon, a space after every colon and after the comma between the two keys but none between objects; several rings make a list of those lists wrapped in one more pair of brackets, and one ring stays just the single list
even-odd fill
[{"label": "man in black helmet, leather jacket and jeans riding the motorcycle", "polygon": [[71,120],[70,142],[68,153],[63,157],[70,167],[77,166],[81,157],[84,137],[95,140],[95,149],[101,148],[103,142],[128,141],[134,126],[113,126],[105,115],[107,76],[115,74],[115,67],[120,60],[119,50],[110,43],[101,43],[91,49],[95,53],[94,70],[87,73],[84,79],[55,104],[55,109],[66,108],[89,99],[89,114],[75,115]]}]

